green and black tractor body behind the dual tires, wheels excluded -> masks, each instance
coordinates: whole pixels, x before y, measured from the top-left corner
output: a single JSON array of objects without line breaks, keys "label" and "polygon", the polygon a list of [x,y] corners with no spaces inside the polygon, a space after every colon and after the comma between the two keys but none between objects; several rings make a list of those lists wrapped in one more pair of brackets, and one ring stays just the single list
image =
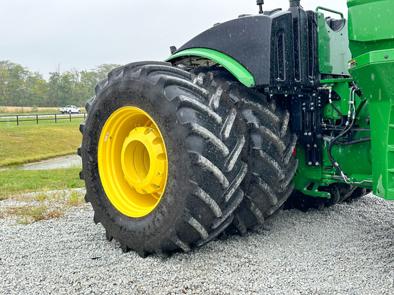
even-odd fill
[{"label": "green and black tractor body behind the dual tires, wheels excluded", "polygon": [[[376,140],[335,146],[333,158],[347,175],[347,182],[373,188],[375,195],[394,199],[393,119],[390,116],[393,109],[388,87],[393,79],[390,73],[394,55],[390,51],[394,50],[391,34],[394,3],[348,1],[348,22],[341,12],[321,7],[315,12],[304,12],[299,4],[299,1],[290,1],[288,11],[241,15],[215,25],[175,51],[168,61],[190,68],[218,63],[248,87],[286,96],[284,100],[290,101],[293,111],[293,131],[298,132],[296,154],[300,172],[294,179],[296,189],[316,197],[328,197],[319,191],[319,186],[346,183],[328,158],[329,135],[321,132],[321,122],[340,119],[327,103],[328,87],[337,96],[333,104],[343,115],[347,115],[352,103],[350,97],[354,95],[351,98],[357,114],[354,125],[358,129],[371,127],[371,133],[354,131],[351,137],[371,136]],[[334,12],[341,18],[326,19],[322,10]],[[371,14],[368,22],[365,21],[367,14]],[[234,39],[239,46],[234,46]],[[356,59],[351,60],[352,57]],[[362,94],[351,93],[353,82],[361,88]],[[321,122],[313,122],[313,118]],[[317,148],[313,148],[315,145]]]}]

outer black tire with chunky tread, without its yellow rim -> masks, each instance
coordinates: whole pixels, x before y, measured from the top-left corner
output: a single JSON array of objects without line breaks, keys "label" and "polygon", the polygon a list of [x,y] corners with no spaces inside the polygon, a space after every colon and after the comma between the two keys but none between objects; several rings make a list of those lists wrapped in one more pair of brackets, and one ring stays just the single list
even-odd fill
[{"label": "outer black tire with chunky tread, without its yellow rim", "polygon": [[[239,188],[247,165],[239,154],[245,132],[237,104],[220,85],[165,63],[135,63],[109,72],[88,100],[79,154],[86,201],[107,239],[123,251],[145,256],[189,251],[218,236],[233,221],[244,198]],[[202,87],[204,85],[205,87]],[[98,143],[103,125],[116,110],[133,106],[155,120],[168,156],[168,180],[161,201],[142,217],[122,214],[109,201],[99,174]],[[241,147],[242,148],[242,147]]]}]

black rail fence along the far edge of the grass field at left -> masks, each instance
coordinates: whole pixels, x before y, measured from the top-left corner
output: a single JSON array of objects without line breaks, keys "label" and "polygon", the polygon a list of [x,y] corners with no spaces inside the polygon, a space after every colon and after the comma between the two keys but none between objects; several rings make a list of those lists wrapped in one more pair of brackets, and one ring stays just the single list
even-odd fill
[{"label": "black rail fence along the far edge of the grass field at left", "polygon": [[9,123],[9,122],[16,122],[16,125],[19,126],[21,122],[32,122],[35,121],[49,121],[54,120],[55,123],[59,120],[71,120],[72,119],[86,119],[87,113],[69,113],[69,114],[42,114],[42,115],[5,115],[0,116],[0,123]]}]

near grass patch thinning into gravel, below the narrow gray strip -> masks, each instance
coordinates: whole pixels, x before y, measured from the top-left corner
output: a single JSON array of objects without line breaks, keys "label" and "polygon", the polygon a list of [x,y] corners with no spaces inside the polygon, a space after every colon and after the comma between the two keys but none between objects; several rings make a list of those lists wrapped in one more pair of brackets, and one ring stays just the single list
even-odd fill
[{"label": "near grass patch thinning into gravel, below the narrow gray strip", "polygon": [[4,201],[0,219],[10,217],[16,223],[29,224],[60,217],[69,208],[81,206],[84,194],[70,189],[84,186],[79,171],[80,167],[0,171],[0,201],[11,201]]}]

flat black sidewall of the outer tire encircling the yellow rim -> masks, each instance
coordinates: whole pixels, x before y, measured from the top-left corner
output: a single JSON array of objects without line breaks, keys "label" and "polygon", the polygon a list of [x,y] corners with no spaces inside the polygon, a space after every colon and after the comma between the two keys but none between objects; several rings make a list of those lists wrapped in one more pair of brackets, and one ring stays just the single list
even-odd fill
[{"label": "flat black sidewall of the outer tire encircling the yellow rim", "polygon": [[[187,152],[185,139],[187,128],[179,124],[176,118],[176,106],[166,99],[161,87],[152,87],[146,81],[129,79],[113,81],[96,96],[96,103],[86,122],[88,136],[83,137],[83,169],[90,170],[88,175],[99,175],[97,146],[101,130],[109,115],[121,107],[137,107],[155,120],[168,157],[168,179],[166,189],[157,207],[146,216],[133,218],[119,212],[109,201],[101,181],[86,180],[87,190],[96,193],[91,200],[96,214],[101,214],[99,221],[107,231],[119,234],[116,240],[127,240],[127,246],[133,249],[149,249],[150,245],[160,244],[159,240],[168,238],[171,230],[181,218],[189,191],[189,171],[191,159]],[[89,155],[90,154],[90,155]],[[89,160],[88,160],[89,159]],[[100,178],[97,178],[98,180]],[[111,230],[112,227],[118,228]],[[120,230],[119,230],[120,229]],[[135,241],[136,244],[131,244]],[[142,243],[144,244],[138,244]]]}]

